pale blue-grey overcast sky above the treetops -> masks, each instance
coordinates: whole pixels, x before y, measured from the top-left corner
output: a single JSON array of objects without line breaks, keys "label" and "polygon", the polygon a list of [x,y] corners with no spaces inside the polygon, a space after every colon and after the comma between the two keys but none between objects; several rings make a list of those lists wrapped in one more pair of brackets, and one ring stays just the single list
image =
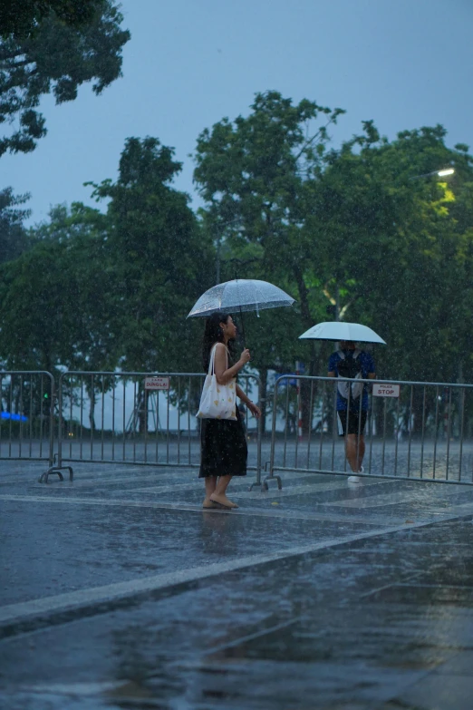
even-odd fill
[{"label": "pale blue-grey overcast sky above the treetops", "polygon": [[115,178],[124,141],[173,146],[193,192],[198,133],[275,89],[347,110],[337,142],[373,119],[382,134],[442,123],[473,145],[473,0],[123,0],[123,77],[100,97],[43,101],[48,135],[0,161],[0,188],[30,192],[33,222],[92,204],[86,180]]}]

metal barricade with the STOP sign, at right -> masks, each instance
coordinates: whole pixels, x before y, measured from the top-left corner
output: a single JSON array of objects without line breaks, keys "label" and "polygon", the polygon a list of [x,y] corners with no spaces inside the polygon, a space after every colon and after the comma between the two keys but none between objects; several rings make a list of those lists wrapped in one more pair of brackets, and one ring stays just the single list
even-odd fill
[{"label": "metal barricade with the STOP sign, at right", "polygon": [[[352,475],[337,415],[337,386],[353,380],[282,375],[275,382],[269,475],[313,472]],[[357,475],[410,481],[473,484],[473,385],[399,380],[359,380],[362,397],[348,393],[347,411],[356,419]],[[291,386],[293,384],[293,386]],[[364,436],[362,417],[366,411]],[[302,412],[302,435],[298,417]],[[342,415],[346,417],[346,412]],[[283,427],[278,426],[283,422]],[[267,464],[266,464],[267,465]]]}]

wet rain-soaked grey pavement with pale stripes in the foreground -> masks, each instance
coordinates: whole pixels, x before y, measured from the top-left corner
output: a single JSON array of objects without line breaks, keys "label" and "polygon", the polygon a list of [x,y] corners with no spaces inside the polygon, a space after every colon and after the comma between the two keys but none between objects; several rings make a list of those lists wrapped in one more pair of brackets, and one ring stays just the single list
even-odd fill
[{"label": "wet rain-soaked grey pavement with pale stripes in the foreground", "polygon": [[472,707],[473,489],[2,462],[0,706]]}]

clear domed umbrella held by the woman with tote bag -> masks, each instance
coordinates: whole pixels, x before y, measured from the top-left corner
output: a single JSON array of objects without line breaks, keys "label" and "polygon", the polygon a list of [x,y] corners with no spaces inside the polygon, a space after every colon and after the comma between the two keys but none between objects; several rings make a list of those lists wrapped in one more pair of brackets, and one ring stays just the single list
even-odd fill
[{"label": "clear domed umbrella held by the woman with tote bag", "polygon": [[264,308],[292,306],[294,298],[267,281],[255,278],[235,278],[209,288],[192,308],[188,317],[208,317],[218,311],[256,311]]}]

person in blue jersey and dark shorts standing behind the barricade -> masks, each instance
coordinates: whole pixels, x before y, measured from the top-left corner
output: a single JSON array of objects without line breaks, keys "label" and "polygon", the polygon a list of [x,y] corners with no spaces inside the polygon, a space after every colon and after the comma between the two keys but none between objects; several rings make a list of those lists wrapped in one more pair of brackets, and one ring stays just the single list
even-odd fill
[{"label": "person in blue jersey and dark shorts standing behind the barricade", "polygon": [[352,382],[337,386],[337,414],[345,437],[345,453],[353,475],[348,481],[360,483],[363,472],[364,427],[368,416],[368,385],[359,379],[374,380],[376,372],[370,353],[360,350],[352,340],[343,340],[340,350],[330,355],[329,377],[347,377]]}]

